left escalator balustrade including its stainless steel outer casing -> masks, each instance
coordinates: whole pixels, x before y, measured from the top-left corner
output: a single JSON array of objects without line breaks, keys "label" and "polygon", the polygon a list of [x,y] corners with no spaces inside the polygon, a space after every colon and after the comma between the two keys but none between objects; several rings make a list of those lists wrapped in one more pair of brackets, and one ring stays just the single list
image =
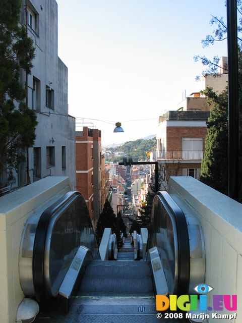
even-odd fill
[{"label": "left escalator balustrade including its stainless steel outer casing", "polygon": [[[85,199],[69,192],[33,217],[23,232],[20,282],[24,294],[50,302],[81,245],[100,259]],[[26,272],[26,274],[25,274]],[[21,274],[22,273],[22,274]]]}]

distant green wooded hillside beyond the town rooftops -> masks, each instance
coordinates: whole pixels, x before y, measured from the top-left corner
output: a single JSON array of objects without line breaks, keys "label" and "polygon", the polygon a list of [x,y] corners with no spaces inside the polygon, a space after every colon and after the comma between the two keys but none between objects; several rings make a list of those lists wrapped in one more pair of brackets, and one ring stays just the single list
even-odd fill
[{"label": "distant green wooded hillside beyond the town rooftops", "polygon": [[[113,151],[124,151],[127,157],[132,157],[134,161],[149,160],[146,154],[156,148],[156,138],[149,140],[138,139],[135,141],[128,141],[123,145],[117,146]],[[123,157],[122,157],[123,159]]]}]

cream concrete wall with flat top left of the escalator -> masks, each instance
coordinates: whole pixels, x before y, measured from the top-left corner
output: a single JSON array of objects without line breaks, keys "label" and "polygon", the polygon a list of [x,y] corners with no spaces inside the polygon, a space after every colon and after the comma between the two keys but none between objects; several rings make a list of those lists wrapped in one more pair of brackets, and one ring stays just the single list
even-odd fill
[{"label": "cream concrete wall with flat top left of the escalator", "polygon": [[0,322],[14,323],[24,299],[19,280],[19,248],[27,219],[70,190],[68,177],[47,177],[0,197]]}]

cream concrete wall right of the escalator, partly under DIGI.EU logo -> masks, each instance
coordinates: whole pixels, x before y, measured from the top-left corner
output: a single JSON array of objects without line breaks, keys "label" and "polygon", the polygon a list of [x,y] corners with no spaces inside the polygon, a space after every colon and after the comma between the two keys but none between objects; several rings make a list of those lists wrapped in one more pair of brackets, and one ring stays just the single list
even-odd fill
[{"label": "cream concrete wall right of the escalator, partly under DIGI.EU logo", "polygon": [[[168,193],[182,199],[198,216],[203,229],[206,254],[205,283],[214,288],[208,294],[237,295],[237,320],[242,321],[242,204],[192,177],[172,177]],[[201,282],[202,283],[202,282]],[[209,322],[212,322],[210,314]],[[221,314],[233,313],[221,311]],[[227,322],[228,319],[216,319]],[[229,320],[235,322],[235,319]]]}]

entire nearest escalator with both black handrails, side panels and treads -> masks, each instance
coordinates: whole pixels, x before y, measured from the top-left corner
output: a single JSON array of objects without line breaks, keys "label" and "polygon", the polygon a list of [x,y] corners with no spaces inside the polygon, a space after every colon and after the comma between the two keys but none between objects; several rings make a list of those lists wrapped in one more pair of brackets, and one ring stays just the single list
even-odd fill
[{"label": "entire nearest escalator with both black handrails, side panels and treads", "polygon": [[[199,223],[167,194],[159,192],[154,199],[149,261],[144,261],[139,235],[136,247],[134,253],[126,242],[116,260],[101,261],[79,192],[69,192],[41,214],[36,212],[25,225],[19,255],[23,293],[40,303],[36,322],[92,322],[93,315],[95,322],[123,322],[124,315],[127,322],[160,321],[154,297],[159,284],[180,295],[204,280]],[[187,320],[172,320],[182,321]]]}]

